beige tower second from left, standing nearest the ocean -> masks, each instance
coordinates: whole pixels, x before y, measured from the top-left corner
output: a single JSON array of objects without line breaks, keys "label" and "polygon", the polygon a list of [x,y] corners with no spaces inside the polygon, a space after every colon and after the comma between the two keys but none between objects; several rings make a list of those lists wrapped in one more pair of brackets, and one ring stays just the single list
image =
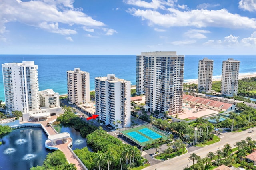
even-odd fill
[{"label": "beige tower second from left, standing nearest the ocean", "polygon": [[90,102],[90,74],[75,68],[67,71],[68,100],[76,105]]}]

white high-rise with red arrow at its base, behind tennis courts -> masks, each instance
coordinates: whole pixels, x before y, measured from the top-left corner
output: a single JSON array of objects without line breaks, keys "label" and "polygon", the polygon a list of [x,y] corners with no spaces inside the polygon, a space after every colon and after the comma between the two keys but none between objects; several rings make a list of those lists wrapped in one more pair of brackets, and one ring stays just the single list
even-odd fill
[{"label": "white high-rise with red arrow at its base, behind tennis courts", "polygon": [[[95,114],[115,128],[131,125],[131,82],[114,74],[95,78]],[[115,124],[115,125],[114,125]]]}]

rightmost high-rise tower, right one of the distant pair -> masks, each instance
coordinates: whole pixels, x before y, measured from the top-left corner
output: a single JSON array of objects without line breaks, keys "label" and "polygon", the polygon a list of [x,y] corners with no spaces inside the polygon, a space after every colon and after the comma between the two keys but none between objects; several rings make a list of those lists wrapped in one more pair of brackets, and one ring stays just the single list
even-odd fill
[{"label": "rightmost high-rise tower, right one of the distant pair", "polygon": [[229,58],[222,62],[221,93],[226,96],[237,95],[240,61]]}]

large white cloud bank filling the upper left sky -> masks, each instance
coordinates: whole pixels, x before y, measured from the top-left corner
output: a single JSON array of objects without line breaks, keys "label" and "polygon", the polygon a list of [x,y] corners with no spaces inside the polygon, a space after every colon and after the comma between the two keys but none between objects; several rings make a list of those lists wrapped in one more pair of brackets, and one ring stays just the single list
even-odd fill
[{"label": "large white cloud bank filling the upper left sky", "polygon": [[74,0],[1,0],[0,34],[4,33],[8,22],[20,22],[62,35],[76,34],[73,25],[105,26],[83,13],[81,8],[74,8],[73,3]]}]

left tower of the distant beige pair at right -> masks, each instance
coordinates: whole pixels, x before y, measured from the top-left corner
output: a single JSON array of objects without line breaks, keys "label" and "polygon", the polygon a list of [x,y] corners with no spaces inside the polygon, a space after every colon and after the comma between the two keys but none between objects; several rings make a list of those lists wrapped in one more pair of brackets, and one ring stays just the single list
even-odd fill
[{"label": "left tower of the distant beige pair at right", "polygon": [[212,90],[213,60],[204,58],[198,64],[198,91],[210,92]]}]

